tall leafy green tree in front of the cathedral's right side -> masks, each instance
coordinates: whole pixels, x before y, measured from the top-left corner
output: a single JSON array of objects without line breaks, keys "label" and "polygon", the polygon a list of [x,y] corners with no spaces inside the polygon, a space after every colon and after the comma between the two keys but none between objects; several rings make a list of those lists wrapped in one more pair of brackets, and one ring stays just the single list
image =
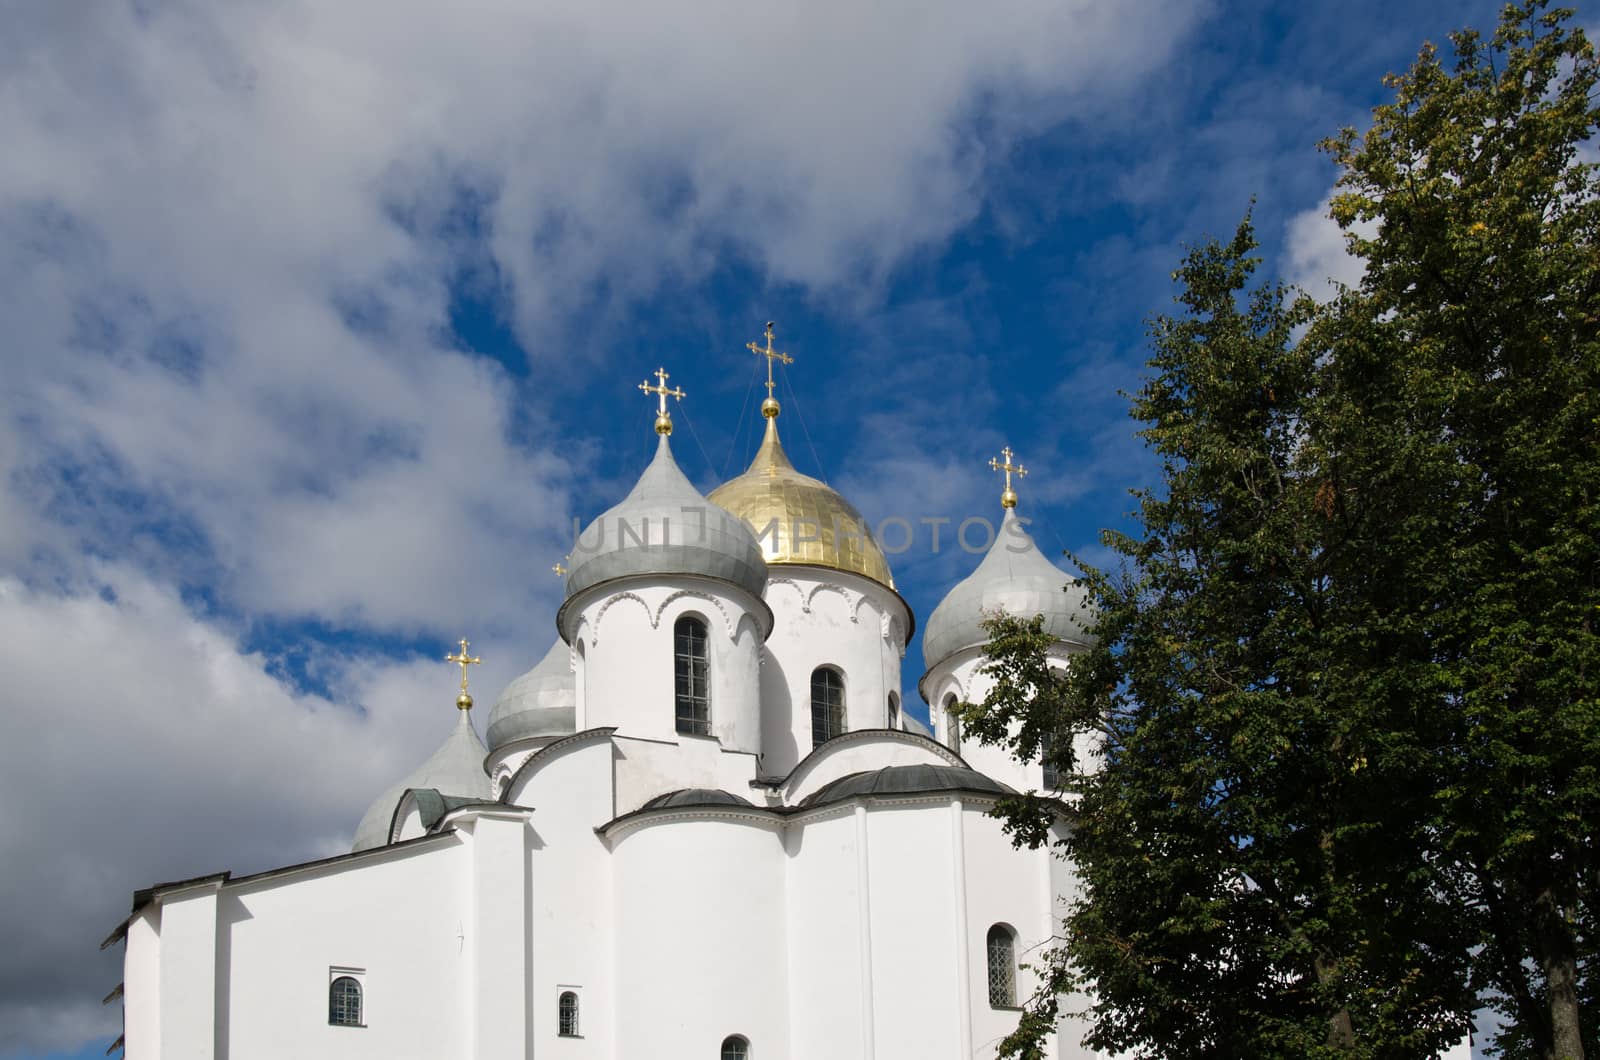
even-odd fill
[{"label": "tall leafy green tree in front of the cathedral's right side", "polygon": [[[1330,306],[1190,253],[1133,395],[1163,482],[1088,573],[1064,676],[990,624],[966,730],[1067,775],[1083,897],[1035,1009],[1093,986],[1139,1055],[1595,1050],[1600,821],[1597,67],[1509,6],[1326,146],[1366,264]],[[1371,224],[1371,235],[1362,235]],[[1074,762],[1096,733],[1104,757]],[[1042,842],[1056,805],[1002,807]]]}]

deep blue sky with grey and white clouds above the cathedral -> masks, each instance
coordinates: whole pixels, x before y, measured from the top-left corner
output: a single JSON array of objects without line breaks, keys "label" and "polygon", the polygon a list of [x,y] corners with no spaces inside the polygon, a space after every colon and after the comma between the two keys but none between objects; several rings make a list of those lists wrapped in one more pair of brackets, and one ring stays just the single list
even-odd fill
[{"label": "deep blue sky with grey and white clouds above the cathedral", "polygon": [[[776,320],[790,456],[869,520],[997,516],[1010,444],[1042,548],[1102,556],[1182,247],[1254,202],[1269,275],[1349,279],[1317,141],[1494,13],[11,5],[0,1055],[115,1036],[133,889],[346,845],[454,637],[490,695],[542,656],[658,365],[702,490]],[[891,557],[918,620],[947,535]]]}]

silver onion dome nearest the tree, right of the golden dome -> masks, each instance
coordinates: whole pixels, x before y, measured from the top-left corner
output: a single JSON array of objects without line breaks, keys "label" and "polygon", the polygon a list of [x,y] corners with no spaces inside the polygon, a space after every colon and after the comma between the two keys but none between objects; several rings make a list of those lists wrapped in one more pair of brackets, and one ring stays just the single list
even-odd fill
[{"label": "silver onion dome nearest the tree, right of the golden dome", "polygon": [[987,644],[982,623],[997,612],[1018,618],[1043,615],[1051,636],[1088,642],[1088,597],[1074,578],[1045,559],[1013,506],[1006,506],[1000,533],[978,570],[957,583],[928,616],[922,634],[923,665],[933,669],[962,648]]}]

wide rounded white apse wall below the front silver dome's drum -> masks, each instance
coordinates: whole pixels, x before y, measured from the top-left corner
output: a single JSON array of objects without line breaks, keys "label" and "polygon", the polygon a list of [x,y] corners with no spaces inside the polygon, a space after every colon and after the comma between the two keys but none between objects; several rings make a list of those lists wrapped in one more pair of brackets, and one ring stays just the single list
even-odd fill
[{"label": "wide rounded white apse wall below the front silver dome's drum", "polygon": [[762,1060],[850,1055],[789,1050],[784,857],[773,825],[645,825],[614,841],[613,858],[616,1057],[717,1057],[730,1034]]}]

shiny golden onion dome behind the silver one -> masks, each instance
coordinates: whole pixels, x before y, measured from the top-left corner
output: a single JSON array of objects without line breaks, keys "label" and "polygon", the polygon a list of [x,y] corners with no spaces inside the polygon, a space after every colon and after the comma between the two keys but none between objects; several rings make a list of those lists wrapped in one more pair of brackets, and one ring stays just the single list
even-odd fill
[{"label": "shiny golden onion dome behind the silver one", "polygon": [[766,562],[848,570],[894,588],[867,520],[827,484],[795,471],[778,440],[778,402],[762,405],[766,437],[749,471],[707,498],[749,524]]}]

